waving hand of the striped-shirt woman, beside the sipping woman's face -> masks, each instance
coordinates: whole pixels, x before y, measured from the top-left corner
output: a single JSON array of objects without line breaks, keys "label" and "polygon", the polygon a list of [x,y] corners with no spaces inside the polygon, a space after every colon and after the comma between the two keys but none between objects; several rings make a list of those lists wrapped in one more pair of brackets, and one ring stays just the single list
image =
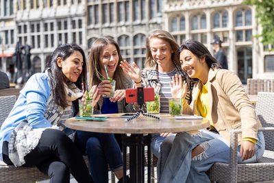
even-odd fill
[{"label": "waving hand of the striped-shirt woman, beside the sipping woman's face", "polygon": [[121,61],[120,66],[122,67],[125,75],[130,77],[135,82],[135,86],[142,86],[142,75],[141,70],[136,65],[135,62],[133,62],[132,66],[126,61]]}]

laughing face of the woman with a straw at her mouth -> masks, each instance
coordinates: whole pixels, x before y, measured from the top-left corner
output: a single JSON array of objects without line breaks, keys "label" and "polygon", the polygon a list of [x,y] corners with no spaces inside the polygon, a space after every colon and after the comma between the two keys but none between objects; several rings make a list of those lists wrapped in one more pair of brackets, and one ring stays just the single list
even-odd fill
[{"label": "laughing face of the woman with a straw at her mouth", "polygon": [[108,44],[103,47],[101,51],[100,61],[101,61],[100,62],[101,73],[103,73],[103,75],[106,78],[107,76],[105,73],[105,66],[106,66],[108,71],[108,76],[113,78],[114,72],[119,62],[119,54],[115,45]]}]

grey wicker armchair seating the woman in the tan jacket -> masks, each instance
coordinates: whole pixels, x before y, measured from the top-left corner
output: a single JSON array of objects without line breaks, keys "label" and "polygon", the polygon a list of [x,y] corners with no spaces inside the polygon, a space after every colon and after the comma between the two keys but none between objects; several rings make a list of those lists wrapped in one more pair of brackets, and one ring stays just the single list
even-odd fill
[{"label": "grey wicker armchair seating the woman in the tan jacket", "polygon": [[256,182],[274,180],[274,93],[258,93],[256,112],[263,127],[259,131],[264,133],[266,150],[263,158],[257,163],[238,164],[238,133],[230,132],[230,161],[216,162],[208,171],[212,182]]}]

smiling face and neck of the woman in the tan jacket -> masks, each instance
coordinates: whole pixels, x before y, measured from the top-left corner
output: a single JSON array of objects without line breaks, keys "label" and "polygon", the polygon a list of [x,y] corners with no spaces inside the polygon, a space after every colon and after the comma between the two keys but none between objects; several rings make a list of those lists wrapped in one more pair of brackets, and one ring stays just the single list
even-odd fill
[{"label": "smiling face and neck of the woman in the tan jacket", "polygon": [[191,78],[198,78],[206,84],[208,82],[208,65],[206,64],[205,57],[198,58],[188,49],[184,49],[180,53],[180,62],[182,64],[182,69],[188,74]]}]

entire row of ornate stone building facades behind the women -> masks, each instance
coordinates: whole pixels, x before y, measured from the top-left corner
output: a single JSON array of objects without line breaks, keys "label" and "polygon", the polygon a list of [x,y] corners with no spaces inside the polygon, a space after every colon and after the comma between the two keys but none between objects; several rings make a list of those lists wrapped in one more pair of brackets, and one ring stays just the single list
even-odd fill
[{"label": "entire row of ornate stone building facades behind the women", "polygon": [[[114,38],[123,58],[143,68],[145,43],[155,29],[166,29],[179,45],[203,42],[211,53],[213,38],[223,40],[229,70],[247,78],[274,77],[274,45],[253,38],[261,31],[256,9],[242,0],[0,0],[0,54],[13,53],[16,42],[32,47],[34,71],[45,69],[61,43],[74,42],[86,51],[102,36]],[[5,56],[8,56],[7,54]],[[11,57],[2,71],[12,66]]]}]

